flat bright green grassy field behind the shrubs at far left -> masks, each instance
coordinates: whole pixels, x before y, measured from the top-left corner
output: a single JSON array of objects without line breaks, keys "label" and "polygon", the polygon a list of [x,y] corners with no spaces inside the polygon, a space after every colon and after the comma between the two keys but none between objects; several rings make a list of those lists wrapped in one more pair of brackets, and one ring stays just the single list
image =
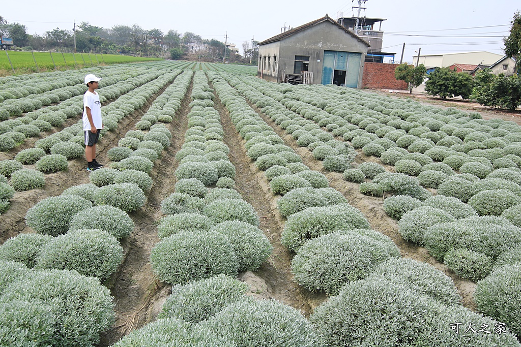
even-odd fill
[{"label": "flat bright green grassy field behind the shrubs at far left", "polygon": [[[13,70],[9,63],[13,63],[13,68],[17,73],[36,72],[36,64],[40,72],[53,71],[54,69],[78,69],[83,67],[94,67],[100,65],[114,65],[129,62],[143,62],[162,60],[158,58],[141,58],[132,56],[122,56],[114,54],[87,54],[87,53],[49,53],[49,52],[17,52],[9,51],[0,54],[0,71],[5,71],[2,75],[11,74]],[[33,59],[34,54],[34,59]]]}]

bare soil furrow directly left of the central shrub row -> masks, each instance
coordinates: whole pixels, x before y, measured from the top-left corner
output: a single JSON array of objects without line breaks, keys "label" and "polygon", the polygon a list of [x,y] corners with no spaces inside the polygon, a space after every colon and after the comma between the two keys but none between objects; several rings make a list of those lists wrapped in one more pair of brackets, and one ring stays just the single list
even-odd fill
[{"label": "bare soil furrow directly left of the central shrub row", "polygon": [[111,277],[111,293],[116,303],[116,324],[102,335],[98,347],[110,346],[130,331],[155,320],[170,294],[171,286],[160,282],[152,272],[150,253],[159,241],[157,221],[163,216],[161,202],[173,192],[178,161],[175,156],[184,143],[192,84],[181,102],[174,120],[166,124],[172,134],[171,145],[156,161],[151,176],[154,183],[143,208],[130,214],[136,224],[125,240],[126,257],[119,271]]}]

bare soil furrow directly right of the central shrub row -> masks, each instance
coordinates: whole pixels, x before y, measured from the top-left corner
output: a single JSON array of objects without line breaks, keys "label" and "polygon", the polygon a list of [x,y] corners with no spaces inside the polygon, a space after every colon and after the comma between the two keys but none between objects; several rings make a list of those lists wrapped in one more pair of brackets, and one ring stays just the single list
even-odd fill
[{"label": "bare soil furrow directly right of the central shrub row", "polygon": [[294,254],[280,243],[285,219],[278,212],[277,198],[271,194],[264,172],[257,169],[246,155],[245,141],[235,130],[228,111],[217,96],[216,107],[225,130],[224,142],[230,148],[229,158],[237,170],[235,185],[242,197],[261,217],[259,227],[274,247],[268,261],[258,271],[242,273],[239,279],[250,284],[252,294],[256,297],[276,299],[309,316],[314,307],[326,297],[323,294],[311,293],[294,281],[291,273],[291,259]]}]

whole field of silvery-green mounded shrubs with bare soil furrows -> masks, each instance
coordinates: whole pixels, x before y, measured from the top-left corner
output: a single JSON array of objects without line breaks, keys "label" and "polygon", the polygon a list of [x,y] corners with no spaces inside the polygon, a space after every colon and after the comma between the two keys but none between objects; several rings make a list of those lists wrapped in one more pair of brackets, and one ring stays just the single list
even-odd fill
[{"label": "whole field of silvery-green mounded shrubs with bare soil furrows", "polygon": [[2,345],[519,346],[515,122],[183,61],[0,97]]}]

